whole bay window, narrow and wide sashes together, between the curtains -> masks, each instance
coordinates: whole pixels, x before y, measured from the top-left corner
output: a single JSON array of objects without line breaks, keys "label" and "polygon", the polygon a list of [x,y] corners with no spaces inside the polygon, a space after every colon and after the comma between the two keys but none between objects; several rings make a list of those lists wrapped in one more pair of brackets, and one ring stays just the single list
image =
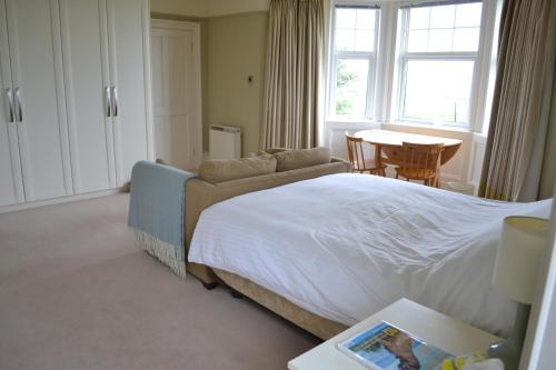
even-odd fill
[{"label": "whole bay window, narrow and wide sashes together, between the curtains", "polygon": [[328,122],[481,132],[502,0],[331,2]]}]

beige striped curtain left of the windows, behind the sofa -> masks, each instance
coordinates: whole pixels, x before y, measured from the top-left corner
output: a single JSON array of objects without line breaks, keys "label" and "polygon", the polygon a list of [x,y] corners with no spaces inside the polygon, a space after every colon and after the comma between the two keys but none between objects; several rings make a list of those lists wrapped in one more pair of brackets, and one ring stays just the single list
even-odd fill
[{"label": "beige striped curtain left of the windows, behind the sofa", "polygon": [[318,144],[322,0],[271,0],[261,149]]}]

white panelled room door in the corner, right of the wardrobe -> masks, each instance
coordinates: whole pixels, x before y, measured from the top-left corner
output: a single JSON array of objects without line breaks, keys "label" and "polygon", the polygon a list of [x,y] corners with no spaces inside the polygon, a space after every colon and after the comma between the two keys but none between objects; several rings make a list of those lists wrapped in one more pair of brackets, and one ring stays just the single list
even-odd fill
[{"label": "white panelled room door in the corner, right of the wardrobe", "polygon": [[182,169],[196,168],[202,156],[199,43],[198,23],[152,21],[155,152]]}]

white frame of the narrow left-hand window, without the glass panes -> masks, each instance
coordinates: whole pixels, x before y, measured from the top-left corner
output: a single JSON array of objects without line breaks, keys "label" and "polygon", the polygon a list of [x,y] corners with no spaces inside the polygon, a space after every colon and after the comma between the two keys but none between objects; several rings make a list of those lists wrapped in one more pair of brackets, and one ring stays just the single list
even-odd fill
[{"label": "white frame of the narrow left-hand window, without the glass panes", "polygon": [[[328,121],[351,121],[351,120],[373,120],[375,114],[375,97],[377,88],[377,70],[378,70],[378,48],[380,34],[381,8],[379,3],[374,1],[332,1],[331,22],[330,22],[330,73],[328,79],[328,94],[326,118]],[[355,8],[355,9],[375,9],[375,40],[373,51],[349,51],[336,49],[336,9],[337,8]],[[365,113],[359,114],[337,114],[336,113],[336,90],[338,81],[338,61],[339,60],[367,60],[369,68],[367,71],[367,93],[365,99]]]}]

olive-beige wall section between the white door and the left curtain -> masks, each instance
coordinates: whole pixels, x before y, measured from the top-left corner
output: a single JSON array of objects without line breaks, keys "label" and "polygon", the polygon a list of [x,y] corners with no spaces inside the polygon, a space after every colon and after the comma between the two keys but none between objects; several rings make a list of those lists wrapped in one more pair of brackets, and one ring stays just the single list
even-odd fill
[{"label": "olive-beige wall section between the white door and the left curtain", "polygon": [[[242,154],[259,149],[268,12],[250,12],[207,20],[208,127],[230,124],[244,130]],[[254,81],[248,82],[252,76]]]}]

